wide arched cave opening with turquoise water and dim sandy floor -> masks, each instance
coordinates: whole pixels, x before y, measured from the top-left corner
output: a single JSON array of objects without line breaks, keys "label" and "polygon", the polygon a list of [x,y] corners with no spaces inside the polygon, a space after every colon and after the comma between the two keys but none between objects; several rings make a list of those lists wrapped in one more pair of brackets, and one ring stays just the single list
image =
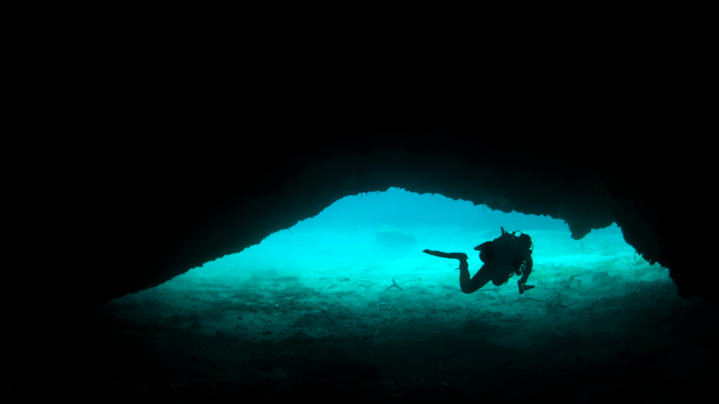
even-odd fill
[{"label": "wide arched cave opening with turquoise water and dim sandy floor", "polygon": [[[457,260],[422,254],[465,252],[474,275],[472,248],[500,227],[532,237],[536,288],[521,295],[516,277],[465,295]],[[668,271],[636,254],[616,224],[574,240],[562,220],[390,188],[99,306],[96,357],[108,382],[168,399],[329,398],[347,388],[409,398],[501,384],[507,372],[534,375],[528,383],[541,390],[567,369],[576,378],[668,349],[702,304],[679,298]],[[676,362],[661,372],[677,372]],[[701,369],[692,370],[700,380]]]}]

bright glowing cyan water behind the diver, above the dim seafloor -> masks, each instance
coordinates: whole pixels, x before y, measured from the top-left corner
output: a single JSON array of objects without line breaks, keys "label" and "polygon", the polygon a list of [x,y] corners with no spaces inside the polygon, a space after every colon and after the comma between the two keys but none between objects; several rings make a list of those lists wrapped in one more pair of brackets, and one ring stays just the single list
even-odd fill
[{"label": "bright glowing cyan water behind the diver, above the dim seafloor", "polygon": [[[318,216],[271,234],[239,254],[195,268],[165,287],[180,287],[196,280],[235,282],[267,275],[300,276],[322,288],[329,285],[326,279],[319,278],[330,276],[377,283],[377,288],[391,285],[391,279],[406,286],[446,283],[459,292],[454,272],[457,262],[431,257],[422,250],[465,252],[470,256],[470,272],[474,275],[481,262],[472,248],[497,237],[500,226],[532,237],[535,266],[529,283],[539,284],[538,288],[542,283],[567,280],[585,270],[611,272],[626,280],[666,275],[658,266],[659,270],[649,270],[641,257],[635,261],[634,249],[624,242],[616,225],[574,240],[564,221],[549,216],[505,214],[441,195],[390,188],[387,192],[342,198]],[[386,234],[390,238],[394,234],[399,242],[378,241],[381,231],[389,231]],[[416,244],[406,242],[408,239],[415,239]],[[626,267],[641,270],[629,272],[624,270]],[[490,284],[482,290],[493,288],[496,287]],[[505,289],[503,293],[516,293],[514,288]]]}]

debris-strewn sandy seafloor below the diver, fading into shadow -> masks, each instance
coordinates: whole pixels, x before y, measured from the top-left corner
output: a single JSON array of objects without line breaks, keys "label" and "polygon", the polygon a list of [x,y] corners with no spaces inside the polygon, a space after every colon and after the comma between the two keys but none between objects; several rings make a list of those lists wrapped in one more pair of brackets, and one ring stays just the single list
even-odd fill
[{"label": "debris-strewn sandy seafloor below the diver, fading into shadow", "polygon": [[[118,400],[693,402],[715,394],[715,307],[679,298],[667,270],[635,258],[613,227],[581,241],[531,231],[536,288],[523,295],[516,277],[462,294],[456,260],[421,254],[431,242],[383,257],[384,266],[354,258],[354,267],[334,267],[318,257],[317,270],[198,268],[99,306],[89,349]],[[472,275],[479,265],[470,255]],[[389,288],[393,280],[401,290]]]}]

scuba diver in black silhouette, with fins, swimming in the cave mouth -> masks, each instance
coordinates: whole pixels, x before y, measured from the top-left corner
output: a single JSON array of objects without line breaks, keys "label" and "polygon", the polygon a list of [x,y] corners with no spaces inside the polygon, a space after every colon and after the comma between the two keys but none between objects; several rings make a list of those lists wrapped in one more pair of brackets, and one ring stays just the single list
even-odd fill
[{"label": "scuba diver in black silhouette, with fins, swimming in the cave mouth", "polygon": [[[473,293],[487,285],[490,280],[497,286],[504,285],[515,274],[522,276],[517,281],[517,286],[519,293],[524,293],[525,290],[534,288],[533,285],[526,285],[527,278],[532,272],[534,244],[528,234],[523,234],[521,231],[508,233],[504,231],[504,227],[500,229],[502,229],[500,237],[475,247],[475,250],[480,252],[480,260],[485,264],[471,280],[467,254],[464,252],[448,253],[431,249],[425,249],[423,252],[435,257],[459,260],[459,288],[462,288],[464,293]],[[519,233],[519,237],[515,233]]]}]

